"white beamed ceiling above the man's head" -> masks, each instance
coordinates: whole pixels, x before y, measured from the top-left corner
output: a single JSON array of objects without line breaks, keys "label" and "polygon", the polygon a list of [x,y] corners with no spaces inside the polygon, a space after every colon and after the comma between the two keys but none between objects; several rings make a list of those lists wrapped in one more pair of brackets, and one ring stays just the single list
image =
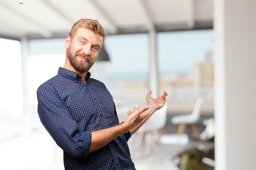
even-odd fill
[{"label": "white beamed ceiling above the man's head", "polygon": [[213,0],[0,0],[1,37],[62,37],[81,18],[106,34],[208,29]]}]

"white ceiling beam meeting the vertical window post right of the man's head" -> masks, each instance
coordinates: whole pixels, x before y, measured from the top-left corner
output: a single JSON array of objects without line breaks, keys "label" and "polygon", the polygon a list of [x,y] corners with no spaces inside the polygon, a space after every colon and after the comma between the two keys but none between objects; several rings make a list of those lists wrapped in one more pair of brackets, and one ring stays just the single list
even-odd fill
[{"label": "white ceiling beam meeting the vertical window post right of the man's head", "polygon": [[145,5],[141,2],[141,0],[135,0],[134,2],[137,3],[137,6],[140,8],[140,11],[143,13],[143,17],[144,17],[144,20],[146,21],[146,27],[148,31],[156,31],[153,21],[150,18],[150,14],[146,9]]}]

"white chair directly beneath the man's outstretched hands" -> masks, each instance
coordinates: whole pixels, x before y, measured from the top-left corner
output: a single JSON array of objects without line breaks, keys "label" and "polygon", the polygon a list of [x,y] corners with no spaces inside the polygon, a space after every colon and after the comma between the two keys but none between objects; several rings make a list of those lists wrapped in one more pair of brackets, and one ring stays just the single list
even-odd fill
[{"label": "white chair directly beneath the man's outstretched hands", "polygon": [[151,143],[153,140],[157,141],[162,147],[164,145],[161,142],[162,131],[161,129],[166,124],[167,116],[167,103],[164,107],[157,110],[137,131],[137,137],[134,144],[134,149],[138,150],[143,136],[145,134],[145,154],[150,153]]}]

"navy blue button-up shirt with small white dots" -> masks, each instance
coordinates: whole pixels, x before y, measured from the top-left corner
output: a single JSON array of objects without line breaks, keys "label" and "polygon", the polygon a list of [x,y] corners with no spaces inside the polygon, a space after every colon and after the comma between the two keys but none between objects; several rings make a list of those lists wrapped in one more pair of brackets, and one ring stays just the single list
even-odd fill
[{"label": "navy blue button-up shirt with small white dots", "polygon": [[42,124],[63,149],[65,170],[135,170],[127,144],[130,132],[89,153],[92,131],[119,124],[112,96],[89,72],[85,83],[60,67],[38,88],[37,98]]}]

